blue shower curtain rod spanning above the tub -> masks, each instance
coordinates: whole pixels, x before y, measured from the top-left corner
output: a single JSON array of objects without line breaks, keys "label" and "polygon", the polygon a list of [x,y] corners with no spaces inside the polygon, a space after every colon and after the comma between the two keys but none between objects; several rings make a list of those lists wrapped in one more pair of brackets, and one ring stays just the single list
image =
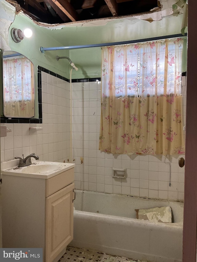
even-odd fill
[{"label": "blue shower curtain rod spanning above the tub", "polygon": [[[187,33],[185,33],[187,36]],[[101,46],[109,46],[109,45],[126,45],[138,42],[146,42],[146,41],[154,41],[165,38],[174,38],[174,37],[183,37],[182,34],[174,34],[160,37],[151,37],[145,39],[131,40],[131,41],[122,41],[122,42],[112,42],[112,43],[103,43],[103,44],[92,44],[92,45],[71,45],[71,46],[58,46],[58,47],[40,47],[40,52],[44,53],[44,51],[53,51],[53,50],[64,50],[64,49],[80,49],[80,48],[89,48],[89,47],[101,47]]]}]

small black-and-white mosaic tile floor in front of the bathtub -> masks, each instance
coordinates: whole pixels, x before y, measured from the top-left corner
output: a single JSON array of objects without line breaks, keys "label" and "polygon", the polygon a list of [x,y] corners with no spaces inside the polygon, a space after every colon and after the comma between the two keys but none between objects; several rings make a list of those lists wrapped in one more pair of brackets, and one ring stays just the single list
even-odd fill
[{"label": "small black-and-white mosaic tile floor in front of the bathtub", "polygon": [[111,256],[105,253],[87,250],[84,248],[67,247],[66,253],[60,258],[59,262],[146,262],[140,260],[132,260],[126,257]]}]

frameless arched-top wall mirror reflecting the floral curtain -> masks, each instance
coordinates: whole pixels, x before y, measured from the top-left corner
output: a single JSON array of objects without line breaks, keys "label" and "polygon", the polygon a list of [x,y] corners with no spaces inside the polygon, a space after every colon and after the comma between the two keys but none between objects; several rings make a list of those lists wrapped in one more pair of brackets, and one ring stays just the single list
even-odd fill
[{"label": "frameless arched-top wall mirror reflecting the floral curtain", "polygon": [[3,115],[31,118],[34,110],[34,65],[14,51],[3,51]]}]

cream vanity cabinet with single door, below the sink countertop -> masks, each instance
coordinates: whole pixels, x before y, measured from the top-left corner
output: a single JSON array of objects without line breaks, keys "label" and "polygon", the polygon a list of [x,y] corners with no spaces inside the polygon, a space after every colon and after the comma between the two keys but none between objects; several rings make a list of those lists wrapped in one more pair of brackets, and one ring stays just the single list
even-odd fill
[{"label": "cream vanity cabinet with single door, below the sink countertop", "polygon": [[73,239],[74,168],[54,176],[2,171],[4,248],[43,248],[57,262]]}]

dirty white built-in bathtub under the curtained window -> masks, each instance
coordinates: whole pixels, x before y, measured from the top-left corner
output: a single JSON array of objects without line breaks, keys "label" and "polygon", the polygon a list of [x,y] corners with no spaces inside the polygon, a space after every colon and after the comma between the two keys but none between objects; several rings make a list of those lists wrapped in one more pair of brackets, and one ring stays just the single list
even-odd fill
[{"label": "dirty white built-in bathtub under the curtained window", "polygon": [[[174,223],[135,219],[135,209],[171,206]],[[73,247],[151,262],[181,262],[183,203],[76,190]]]}]

